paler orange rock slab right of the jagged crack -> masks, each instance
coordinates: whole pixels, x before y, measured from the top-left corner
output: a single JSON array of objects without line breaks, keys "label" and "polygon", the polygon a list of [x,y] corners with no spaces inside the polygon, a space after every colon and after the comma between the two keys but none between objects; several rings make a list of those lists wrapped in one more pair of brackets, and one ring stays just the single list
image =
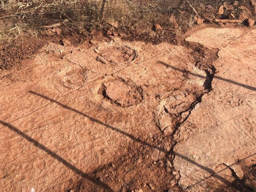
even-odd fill
[{"label": "paler orange rock slab right of the jagged crack", "polygon": [[187,40],[220,50],[213,90],[176,132],[174,167],[186,191],[214,191],[256,164],[256,30],[208,28]]}]

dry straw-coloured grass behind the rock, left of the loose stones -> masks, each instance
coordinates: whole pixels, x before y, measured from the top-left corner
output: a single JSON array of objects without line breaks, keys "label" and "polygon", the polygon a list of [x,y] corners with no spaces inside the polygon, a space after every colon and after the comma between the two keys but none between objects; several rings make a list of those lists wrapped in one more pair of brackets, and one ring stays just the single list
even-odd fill
[{"label": "dry straw-coloured grass behind the rock, left of the loose stones", "polygon": [[[191,25],[193,11],[187,1],[182,0],[0,0],[0,40],[14,38],[20,34],[36,33],[43,25],[68,19],[77,29],[102,26],[105,21],[118,21],[124,31],[150,33],[152,24],[160,23],[163,28],[172,28],[171,14],[176,15],[181,26]],[[232,0],[230,0],[232,1]],[[218,4],[221,0],[189,1],[194,6]],[[178,9],[182,5],[182,9]],[[186,19],[184,20],[184,17]],[[190,21],[188,21],[188,18]],[[34,32],[33,32],[34,31]],[[151,31],[152,32],[152,31]]]}]

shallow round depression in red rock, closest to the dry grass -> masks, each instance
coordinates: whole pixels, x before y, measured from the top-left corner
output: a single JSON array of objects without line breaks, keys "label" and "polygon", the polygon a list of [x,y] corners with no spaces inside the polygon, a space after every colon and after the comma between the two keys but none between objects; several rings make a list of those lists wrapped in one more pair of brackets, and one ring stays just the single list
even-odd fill
[{"label": "shallow round depression in red rock, closest to the dry grass", "polygon": [[112,45],[105,47],[101,55],[110,63],[127,63],[136,60],[137,51],[126,45]]}]

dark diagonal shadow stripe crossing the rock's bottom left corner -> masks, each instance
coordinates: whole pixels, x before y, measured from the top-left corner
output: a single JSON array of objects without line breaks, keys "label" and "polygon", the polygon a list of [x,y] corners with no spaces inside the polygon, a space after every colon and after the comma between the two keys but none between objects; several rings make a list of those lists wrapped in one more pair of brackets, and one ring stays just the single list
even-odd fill
[{"label": "dark diagonal shadow stripe crossing the rock's bottom left corner", "polygon": [[55,152],[51,151],[51,149],[48,149],[46,146],[44,146],[43,144],[41,144],[40,142],[36,141],[35,139],[29,137],[27,134],[25,134],[24,132],[20,131],[19,129],[17,129],[16,127],[14,127],[11,124],[8,124],[7,122],[4,122],[3,120],[0,120],[0,124],[8,127],[9,129],[11,129],[11,131],[16,132],[17,134],[19,134],[19,136],[23,137],[24,139],[26,139],[27,141],[31,142],[34,146],[42,149],[43,151],[45,151],[47,154],[49,154],[51,157],[55,158],[56,160],[58,160],[60,163],[64,164],[65,166],[67,166],[67,168],[71,169],[72,171],[74,171],[75,173],[79,174],[80,176],[82,176],[82,178],[88,179],[89,181],[91,181],[92,183],[95,183],[99,186],[101,186],[104,189],[107,189],[110,192],[114,192],[114,190],[112,188],[110,188],[109,185],[103,183],[102,181],[97,181],[95,179],[93,179],[91,176],[88,176],[88,174],[83,173],[83,171],[81,171],[80,169],[76,168],[75,166],[73,166],[72,164],[68,163],[68,161],[66,161],[65,159],[63,159],[63,157],[59,156],[58,154],[56,154]]}]

